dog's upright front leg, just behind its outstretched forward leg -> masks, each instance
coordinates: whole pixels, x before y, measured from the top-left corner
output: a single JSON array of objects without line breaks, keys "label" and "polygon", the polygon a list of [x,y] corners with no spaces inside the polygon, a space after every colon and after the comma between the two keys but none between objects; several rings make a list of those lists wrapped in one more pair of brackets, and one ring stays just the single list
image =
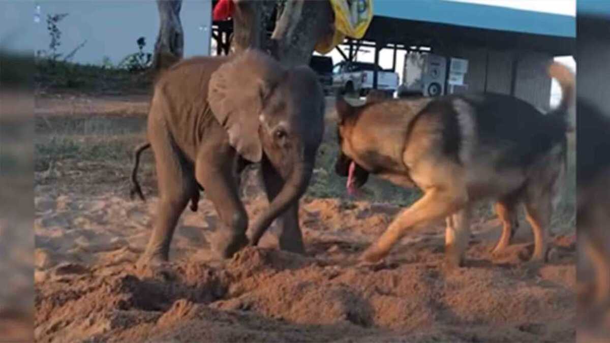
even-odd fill
[{"label": "dog's upright front leg, just behind its outstretched forward leg", "polygon": [[448,267],[461,267],[464,262],[464,251],[468,248],[470,238],[470,206],[464,206],[451,215],[445,229],[445,261]]}]

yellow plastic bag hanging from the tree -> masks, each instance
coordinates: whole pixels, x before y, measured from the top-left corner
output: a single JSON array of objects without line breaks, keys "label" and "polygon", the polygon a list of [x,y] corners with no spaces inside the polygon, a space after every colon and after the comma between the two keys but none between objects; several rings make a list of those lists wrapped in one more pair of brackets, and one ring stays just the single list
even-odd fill
[{"label": "yellow plastic bag hanging from the tree", "polygon": [[373,0],[329,0],[335,13],[334,33],[320,40],[315,51],[328,54],[347,37],[360,39],[373,20]]}]

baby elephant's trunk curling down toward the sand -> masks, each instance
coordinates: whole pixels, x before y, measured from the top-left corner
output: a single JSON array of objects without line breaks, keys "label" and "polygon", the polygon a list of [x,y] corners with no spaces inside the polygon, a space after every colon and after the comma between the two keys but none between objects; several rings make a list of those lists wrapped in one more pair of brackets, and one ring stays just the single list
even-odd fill
[{"label": "baby elephant's trunk curling down toward the sand", "polygon": [[295,166],[292,175],[284,182],[284,187],[271,201],[267,211],[257,217],[251,226],[253,233],[250,239],[251,245],[257,245],[260,237],[267,231],[273,220],[286,211],[294,201],[301,198],[301,195],[307,189],[313,169],[314,164],[309,162],[300,162]]}]

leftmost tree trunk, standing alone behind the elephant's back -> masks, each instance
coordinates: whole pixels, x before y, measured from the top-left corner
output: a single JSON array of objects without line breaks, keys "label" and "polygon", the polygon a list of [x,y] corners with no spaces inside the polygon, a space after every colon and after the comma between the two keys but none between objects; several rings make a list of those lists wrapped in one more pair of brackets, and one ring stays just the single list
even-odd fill
[{"label": "leftmost tree trunk, standing alone behind the elephant's back", "polygon": [[184,32],[180,22],[182,0],[157,0],[159,35],[154,46],[154,69],[167,68],[182,58]]}]

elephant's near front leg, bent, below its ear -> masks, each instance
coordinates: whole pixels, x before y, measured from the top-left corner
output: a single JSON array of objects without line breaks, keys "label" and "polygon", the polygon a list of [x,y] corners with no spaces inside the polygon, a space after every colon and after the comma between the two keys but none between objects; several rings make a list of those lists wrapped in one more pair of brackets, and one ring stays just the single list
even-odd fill
[{"label": "elephant's near front leg, bent, below its ear", "polygon": [[234,175],[236,157],[230,146],[210,146],[199,152],[195,167],[195,177],[206,189],[223,226],[210,238],[212,250],[220,258],[231,258],[248,245],[248,214]]}]

